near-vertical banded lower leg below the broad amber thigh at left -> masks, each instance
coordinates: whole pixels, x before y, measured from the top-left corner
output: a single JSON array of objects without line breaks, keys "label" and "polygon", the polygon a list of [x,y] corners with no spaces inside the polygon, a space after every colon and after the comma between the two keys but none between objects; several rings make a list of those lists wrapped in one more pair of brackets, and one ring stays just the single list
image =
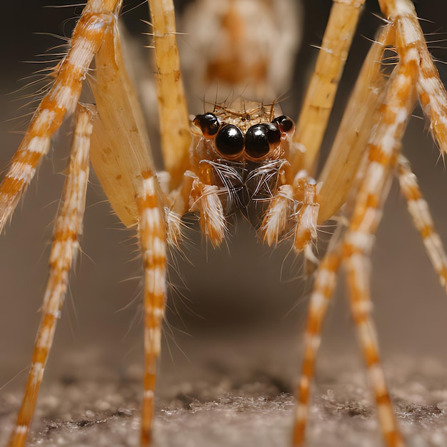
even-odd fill
[{"label": "near-vertical banded lower leg below the broad amber thigh at left", "polygon": [[166,306],[166,230],[159,204],[156,177],[142,173],[139,211],[139,238],[144,265],[144,396],[141,414],[141,446],[152,440],[156,361],[161,351],[161,325]]}]

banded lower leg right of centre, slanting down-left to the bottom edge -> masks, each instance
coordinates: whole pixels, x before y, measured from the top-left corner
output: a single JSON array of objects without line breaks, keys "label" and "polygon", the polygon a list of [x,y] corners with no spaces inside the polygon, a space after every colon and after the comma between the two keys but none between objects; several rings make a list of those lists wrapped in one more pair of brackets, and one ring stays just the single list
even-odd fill
[{"label": "banded lower leg right of centre, slanting down-left to the bottom edge", "polygon": [[[335,237],[335,236],[334,236]],[[318,268],[311,294],[304,338],[304,358],[301,377],[295,389],[297,401],[293,426],[293,446],[303,446],[309,406],[309,394],[316,356],[321,341],[324,316],[336,286],[336,275],[340,266],[340,244],[329,248]]]}]

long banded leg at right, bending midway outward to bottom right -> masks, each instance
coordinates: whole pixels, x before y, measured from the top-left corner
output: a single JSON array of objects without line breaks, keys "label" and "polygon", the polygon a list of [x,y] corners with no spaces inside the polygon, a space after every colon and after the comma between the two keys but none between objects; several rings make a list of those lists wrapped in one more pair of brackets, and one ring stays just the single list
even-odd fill
[{"label": "long banded leg at right, bending midway outward to bottom right", "polygon": [[[405,2],[400,1],[399,4],[406,14]],[[369,255],[373,235],[381,221],[381,205],[388,194],[391,169],[396,164],[403,132],[416,102],[415,79],[418,71],[418,53],[414,51],[415,35],[408,33],[415,40],[403,44],[399,33],[406,33],[408,30],[401,30],[399,24],[405,18],[397,16],[395,21],[400,62],[391,75],[386,99],[379,107],[380,120],[368,144],[368,165],[356,195],[353,216],[343,243],[343,263],[348,275],[351,310],[376,396],[381,431],[388,447],[403,446],[403,439],[386,389],[376,331],[370,316]]]}]

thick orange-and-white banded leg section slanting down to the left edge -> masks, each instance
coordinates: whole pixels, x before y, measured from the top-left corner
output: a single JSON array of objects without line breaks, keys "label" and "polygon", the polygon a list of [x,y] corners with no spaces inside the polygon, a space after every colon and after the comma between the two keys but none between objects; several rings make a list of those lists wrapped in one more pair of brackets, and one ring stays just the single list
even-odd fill
[{"label": "thick orange-and-white banded leg section slanting down to the left edge", "polygon": [[51,136],[61,126],[64,116],[76,109],[91,60],[120,7],[121,0],[90,0],[84,8],[74,29],[69,52],[54,71],[54,84],[39,104],[14,154],[11,168],[1,182],[0,231],[33,179],[42,156],[49,151]]}]

